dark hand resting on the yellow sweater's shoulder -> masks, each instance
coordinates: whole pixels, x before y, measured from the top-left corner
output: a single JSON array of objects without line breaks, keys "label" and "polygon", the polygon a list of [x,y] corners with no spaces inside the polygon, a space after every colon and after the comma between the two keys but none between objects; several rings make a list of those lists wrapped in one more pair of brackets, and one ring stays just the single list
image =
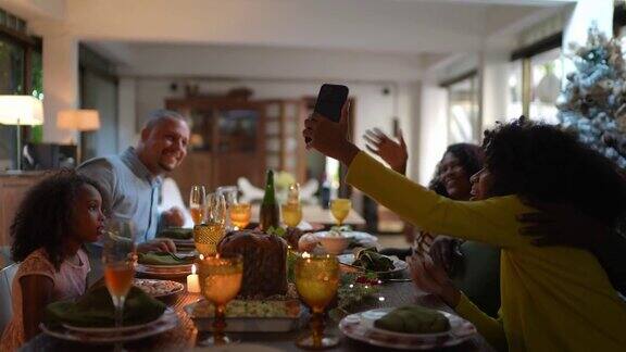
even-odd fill
[{"label": "dark hand resting on the yellow sweater's shoulder", "polygon": [[538,212],[517,215],[519,234],[533,238],[536,246],[568,246],[590,249],[603,241],[610,228],[603,222],[587,216],[571,204],[542,203],[524,200]]}]

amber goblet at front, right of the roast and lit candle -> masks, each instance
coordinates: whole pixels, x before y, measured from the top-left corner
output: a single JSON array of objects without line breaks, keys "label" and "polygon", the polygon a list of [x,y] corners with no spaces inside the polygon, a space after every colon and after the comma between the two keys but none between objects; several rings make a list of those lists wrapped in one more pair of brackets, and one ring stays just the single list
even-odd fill
[{"label": "amber goblet at front, right of the roast and lit candle", "polygon": [[296,345],[303,349],[328,349],[339,343],[335,336],[324,335],[324,309],[339,288],[339,261],[335,255],[311,255],[296,259],[296,289],[300,299],[311,307],[311,335],[300,337]]}]

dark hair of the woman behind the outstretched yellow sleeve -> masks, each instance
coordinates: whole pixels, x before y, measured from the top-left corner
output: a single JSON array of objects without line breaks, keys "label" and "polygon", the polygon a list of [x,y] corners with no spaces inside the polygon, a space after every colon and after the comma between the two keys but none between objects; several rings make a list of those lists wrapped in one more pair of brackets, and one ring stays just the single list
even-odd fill
[{"label": "dark hair of the woman behind the outstretched yellow sleeve", "polygon": [[[476,144],[471,143],[450,144],[448,146],[448,149],[446,149],[446,152],[443,153],[441,160],[443,160],[443,158],[446,158],[446,154],[448,153],[452,154],[454,158],[459,160],[459,162],[461,163],[461,167],[463,167],[463,171],[465,171],[468,177],[472,177],[472,175],[479,172],[485,163],[485,153],[483,152],[483,148]],[[439,161],[439,163],[437,164],[437,167],[435,169],[435,176],[433,176],[433,178],[430,179],[428,188],[437,192],[437,194],[439,196],[450,197],[448,194],[448,191],[446,190],[446,186],[441,180],[441,161]]]}]

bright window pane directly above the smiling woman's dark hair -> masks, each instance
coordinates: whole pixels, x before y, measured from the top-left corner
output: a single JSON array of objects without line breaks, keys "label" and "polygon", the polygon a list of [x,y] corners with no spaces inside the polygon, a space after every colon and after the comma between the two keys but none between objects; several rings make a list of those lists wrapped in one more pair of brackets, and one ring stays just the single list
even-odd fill
[{"label": "bright window pane directly above the smiling woman's dark hair", "polygon": [[472,72],[443,85],[448,88],[448,142],[477,143],[480,138],[478,75]]}]

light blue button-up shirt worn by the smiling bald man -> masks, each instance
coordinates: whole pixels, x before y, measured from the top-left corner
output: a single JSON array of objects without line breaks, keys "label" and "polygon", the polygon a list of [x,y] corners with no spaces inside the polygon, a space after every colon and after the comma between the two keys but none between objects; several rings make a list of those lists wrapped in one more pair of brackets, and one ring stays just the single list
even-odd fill
[{"label": "light blue button-up shirt worn by the smiling bald man", "polygon": [[102,187],[112,218],[135,223],[137,243],[154,238],[159,227],[156,205],[162,179],[150,174],[134,148],[120,155],[88,160],[78,166],[78,173]]}]

